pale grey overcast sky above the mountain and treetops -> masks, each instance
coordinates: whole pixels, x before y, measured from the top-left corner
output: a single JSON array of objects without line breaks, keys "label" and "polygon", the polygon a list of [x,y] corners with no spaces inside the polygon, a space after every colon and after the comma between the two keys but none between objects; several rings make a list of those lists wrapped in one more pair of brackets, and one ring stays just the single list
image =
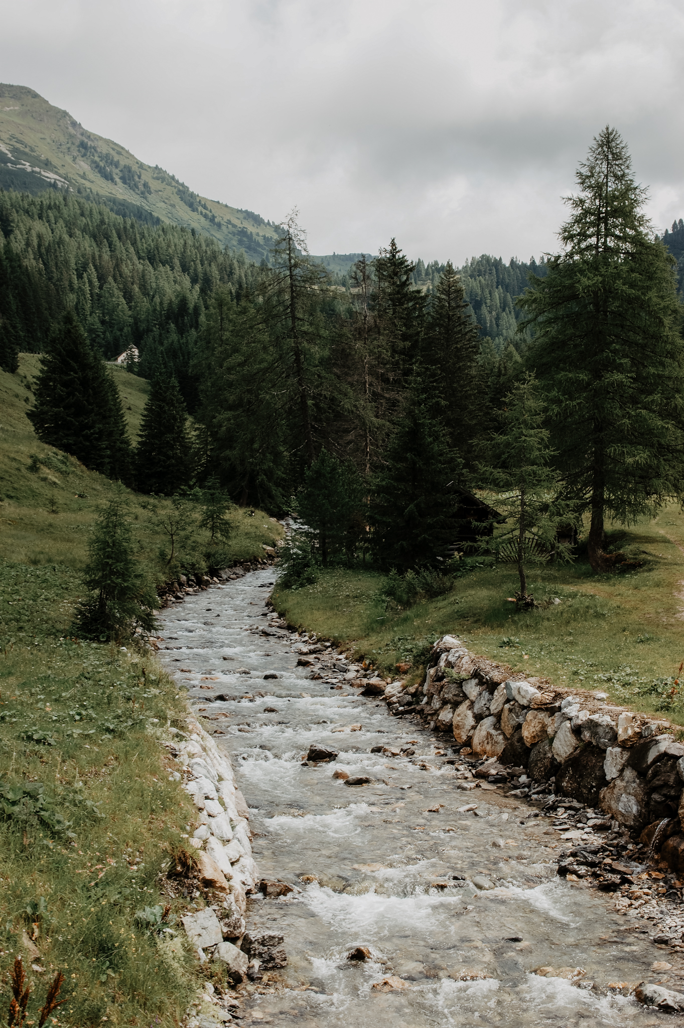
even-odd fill
[{"label": "pale grey overcast sky above the mountain and treetops", "polygon": [[312,253],[554,250],[615,125],[658,228],[684,217],[673,0],[0,0],[0,79]]}]

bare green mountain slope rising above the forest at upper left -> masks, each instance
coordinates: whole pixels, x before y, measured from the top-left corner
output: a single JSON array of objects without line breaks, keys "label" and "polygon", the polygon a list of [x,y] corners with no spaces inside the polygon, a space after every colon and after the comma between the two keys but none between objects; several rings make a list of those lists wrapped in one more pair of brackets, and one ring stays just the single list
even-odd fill
[{"label": "bare green mountain slope rising above the forest at upper left", "polygon": [[24,85],[0,84],[0,187],[34,194],[73,190],[116,214],[194,228],[256,261],[277,234],[258,214],[197,195]]}]

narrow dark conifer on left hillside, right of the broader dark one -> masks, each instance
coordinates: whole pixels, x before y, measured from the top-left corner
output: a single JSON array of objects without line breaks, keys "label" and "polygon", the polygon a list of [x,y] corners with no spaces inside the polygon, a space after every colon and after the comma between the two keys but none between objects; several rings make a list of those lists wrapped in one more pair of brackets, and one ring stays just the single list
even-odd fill
[{"label": "narrow dark conifer on left hillside, right of the broader dark one", "polygon": [[136,480],[141,492],[173,495],[192,475],[187,411],[174,377],[156,378],[143,410]]}]

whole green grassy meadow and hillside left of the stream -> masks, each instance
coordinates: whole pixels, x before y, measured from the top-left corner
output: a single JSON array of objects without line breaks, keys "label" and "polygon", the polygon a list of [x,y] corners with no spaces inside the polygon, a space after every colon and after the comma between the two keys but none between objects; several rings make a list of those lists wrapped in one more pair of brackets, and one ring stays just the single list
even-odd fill
[{"label": "whole green grassy meadow and hillside left of the stream", "polygon": [[[0,372],[0,1018],[21,954],[27,1025],[61,971],[67,1002],[50,1028],[172,1028],[203,981],[178,920],[192,905],[163,887],[194,808],[155,740],[169,723],[183,728],[187,708],[149,652],[71,637],[89,528],[113,485],[36,439],[26,410],[38,360]],[[113,373],[135,439],[147,382]],[[138,556],[157,582],[207,566],[201,534],[167,565],[158,519],[169,502],[127,499]],[[217,562],[263,556],[281,535],[260,511],[230,517]]]}]

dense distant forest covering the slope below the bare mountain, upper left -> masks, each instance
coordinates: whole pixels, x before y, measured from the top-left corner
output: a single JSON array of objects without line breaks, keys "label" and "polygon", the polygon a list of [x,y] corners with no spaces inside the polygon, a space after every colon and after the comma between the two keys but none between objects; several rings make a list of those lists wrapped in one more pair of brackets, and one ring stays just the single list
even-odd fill
[{"label": "dense distant forest covering the slope below the bare mountain, upper left", "polygon": [[141,374],[175,374],[194,409],[190,365],[207,299],[222,284],[240,293],[256,265],[207,236],[126,213],[62,193],[0,190],[2,360],[11,363],[15,348],[41,352],[71,307],[105,357],[138,346]]}]

